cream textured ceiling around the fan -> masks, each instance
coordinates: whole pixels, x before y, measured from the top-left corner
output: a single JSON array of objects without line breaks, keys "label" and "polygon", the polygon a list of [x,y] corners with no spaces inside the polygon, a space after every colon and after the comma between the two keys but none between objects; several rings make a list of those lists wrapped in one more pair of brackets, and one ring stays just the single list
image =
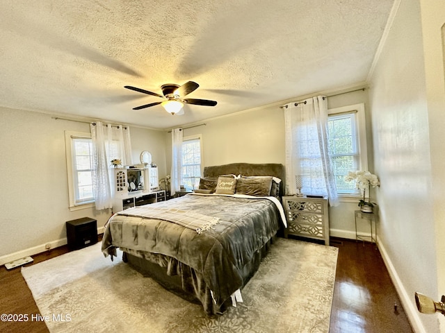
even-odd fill
[{"label": "cream textured ceiling around the fan", "polygon": [[[1,0],[0,105],[172,128],[363,83],[393,0]],[[172,116],[161,85],[193,80]]]}]

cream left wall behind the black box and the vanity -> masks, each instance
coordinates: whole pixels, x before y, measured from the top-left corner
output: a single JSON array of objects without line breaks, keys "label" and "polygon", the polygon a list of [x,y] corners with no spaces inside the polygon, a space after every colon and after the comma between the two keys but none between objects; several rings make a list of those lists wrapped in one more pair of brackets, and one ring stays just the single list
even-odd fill
[{"label": "cream left wall behind the black box and the vanity", "polygon": [[[65,221],[84,216],[102,227],[111,210],[70,212],[65,130],[90,132],[88,123],[0,108],[0,265],[66,244]],[[163,133],[130,128],[133,158],[147,149],[165,168]]]}]

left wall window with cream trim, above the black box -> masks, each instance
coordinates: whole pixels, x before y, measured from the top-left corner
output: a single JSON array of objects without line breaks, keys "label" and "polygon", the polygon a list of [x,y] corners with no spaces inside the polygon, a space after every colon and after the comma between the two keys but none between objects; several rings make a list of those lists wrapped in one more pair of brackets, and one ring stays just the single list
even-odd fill
[{"label": "left wall window with cream trim, above the black box", "polygon": [[65,132],[65,147],[70,208],[94,203],[90,134]]}]

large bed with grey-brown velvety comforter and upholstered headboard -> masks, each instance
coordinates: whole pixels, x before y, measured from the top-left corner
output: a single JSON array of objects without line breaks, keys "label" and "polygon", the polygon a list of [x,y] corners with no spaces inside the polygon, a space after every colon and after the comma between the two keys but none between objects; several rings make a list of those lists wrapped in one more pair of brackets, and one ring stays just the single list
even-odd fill
[{"label": "large bed with grey-brown velvety comforter and upholstered headboard", "polygon": [[111,216],[102,252],[113,259],[120,248],[140,273],[209,315],[223,314],[242,300],[241,290],[285,228],[284,175],[282,164],[205,167],[195,193]]}]

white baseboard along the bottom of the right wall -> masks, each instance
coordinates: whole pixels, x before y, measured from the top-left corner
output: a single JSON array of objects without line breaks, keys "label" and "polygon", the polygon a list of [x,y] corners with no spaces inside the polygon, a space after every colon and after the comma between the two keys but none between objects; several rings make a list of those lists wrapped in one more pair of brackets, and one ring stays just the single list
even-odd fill
[{"label": "white baseboard along the bottom of the right wall", "polygon": [[401,299],[403,309],[405,310],[408,320],[411,323],[412,329],[416,333],[427,333],[425,327],[423,327],[423,323],[419,316],[419,311],[416,307],[414,307],[414,295],[408,295],[405,287],[403,287],[403,283],[398,276],[394,265],[391,262],[391,259],[388,256],[388,253],[385,249],[385,246],[382,245],[380,239],[378,239],[378,248],[380,250],[380,255],[382,255],[383,261],[385,262],[385,266],[387,266],[387,270],[389,272],[389,276],[391,277],[394,286],[396,287],[396,291],[398,293],[398,297]]}]

